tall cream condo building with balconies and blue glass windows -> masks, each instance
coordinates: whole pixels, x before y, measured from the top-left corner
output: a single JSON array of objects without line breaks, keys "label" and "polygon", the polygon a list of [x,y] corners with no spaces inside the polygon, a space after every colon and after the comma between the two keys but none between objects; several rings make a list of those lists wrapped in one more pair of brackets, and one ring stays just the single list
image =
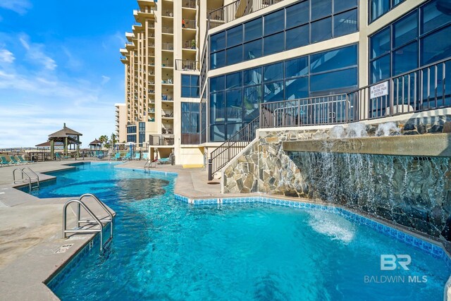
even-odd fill
[{"label": "tall cream condo building with balconies and blue glass windows", "polygon": [[[440,61],[434,74],[451,78],[449,0],[138,4],[121,49],[127,142],[176,164],[204,164],[262,103],[349,93]],[[409,89],[439,82],[449,106],[451,85],[431,76]]]}]

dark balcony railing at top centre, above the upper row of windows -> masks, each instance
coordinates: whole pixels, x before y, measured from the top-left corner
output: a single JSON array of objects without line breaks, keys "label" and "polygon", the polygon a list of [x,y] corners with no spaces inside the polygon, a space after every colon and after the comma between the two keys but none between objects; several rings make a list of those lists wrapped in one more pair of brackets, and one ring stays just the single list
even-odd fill
[{"label": "dark balcony railing at top centre, above the upper row of windows", "polygon": [[210,28],[214,28],[282,1],[283,0],[237,0],[214,10],[207,8],[207,18],[209,20]]}]

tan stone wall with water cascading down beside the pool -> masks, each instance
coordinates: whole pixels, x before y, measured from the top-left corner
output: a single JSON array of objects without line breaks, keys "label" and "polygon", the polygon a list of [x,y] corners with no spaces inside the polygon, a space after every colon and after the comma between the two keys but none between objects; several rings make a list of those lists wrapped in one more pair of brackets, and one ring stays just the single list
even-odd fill
[{"label": "tan stone wall with water cascading down beside the pool", "polygon": [[[447,118],[396,125],[390,135],[451,132]],[[366,132],[375,136],[380,131],[377,125],[366,125]],[[260,131],[223,169],[223,192],[263,192],[343,204],[440,235],[451,215],[450,159],[330,154],[326,152],[328,137],[330,129]],[[323,140],[325,152],[283,150],[282,142],[299,140]]]}]

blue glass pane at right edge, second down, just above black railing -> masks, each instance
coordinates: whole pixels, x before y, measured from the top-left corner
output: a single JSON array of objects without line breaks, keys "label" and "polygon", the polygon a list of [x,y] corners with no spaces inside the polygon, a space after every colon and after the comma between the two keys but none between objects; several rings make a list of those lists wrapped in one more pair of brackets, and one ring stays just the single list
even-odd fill
[{"label": "blue glass pane at right edge, second down, just above black railing", "polygon": [[451,25],[421,39],[421,66],[446,59],[451,54]]}]

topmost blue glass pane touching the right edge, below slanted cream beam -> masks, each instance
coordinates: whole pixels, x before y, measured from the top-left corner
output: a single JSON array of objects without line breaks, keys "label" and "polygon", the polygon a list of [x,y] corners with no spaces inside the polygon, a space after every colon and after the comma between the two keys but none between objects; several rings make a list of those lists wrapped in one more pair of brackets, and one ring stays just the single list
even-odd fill
[{"label": "topmost blue glass pane touching the right edge, below slanted cream beam", "polygon": [[451,22],[451,8],[444,9],[440,0],[431,1],[421,8],[421,16],[421,33],[430,32]]}]

